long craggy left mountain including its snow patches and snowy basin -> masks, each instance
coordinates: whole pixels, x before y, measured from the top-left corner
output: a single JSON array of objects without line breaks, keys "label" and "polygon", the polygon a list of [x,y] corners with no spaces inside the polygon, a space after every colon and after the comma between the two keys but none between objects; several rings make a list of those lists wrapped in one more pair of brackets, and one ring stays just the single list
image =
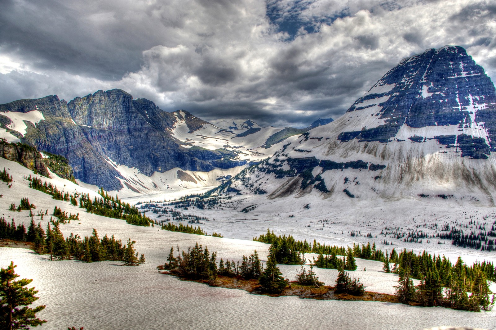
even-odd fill
[{"label": "long craggy left mountain including its snow patches and snowy basin", "polygon": [[61,155],[76,179],[123,197],[217,185],[244,165],[271,156],[277,143],[294,135],[267,147],[265,142],[282,128],[243,124],[249,129],[223,130],[120,89],[68,103],[50,95],[0,105],[0,138]]}]

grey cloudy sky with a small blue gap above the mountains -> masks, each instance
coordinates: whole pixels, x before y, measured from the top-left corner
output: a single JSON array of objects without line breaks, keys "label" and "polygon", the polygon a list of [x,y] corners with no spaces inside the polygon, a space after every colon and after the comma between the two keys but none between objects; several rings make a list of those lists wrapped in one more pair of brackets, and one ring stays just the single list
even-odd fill
[{"label": "grey cloudy sky with a small blue gap above the mountains", "polygon": [[465,47],[496,79],[493,0],[0,0],[0,103],[121,88],[166,111],[303,127],[402,58]]}]

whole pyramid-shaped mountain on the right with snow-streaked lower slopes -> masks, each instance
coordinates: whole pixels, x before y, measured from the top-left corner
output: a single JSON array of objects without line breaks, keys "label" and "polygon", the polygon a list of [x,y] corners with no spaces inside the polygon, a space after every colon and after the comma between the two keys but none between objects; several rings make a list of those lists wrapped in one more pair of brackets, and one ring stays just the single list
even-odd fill
[{"label": "whole pyramid-shaped mountain on the right with snow-streaked lower slopes", "polygon": [[457,46],[402,60],[339,119],[232,181],[270,199],[495,205],[496,90]]}]

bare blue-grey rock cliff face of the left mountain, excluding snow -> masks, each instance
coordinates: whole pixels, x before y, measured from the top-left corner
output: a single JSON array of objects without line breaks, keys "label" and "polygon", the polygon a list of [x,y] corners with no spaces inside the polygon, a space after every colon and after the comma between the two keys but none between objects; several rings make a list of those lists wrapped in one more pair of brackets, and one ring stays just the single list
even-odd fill
[{"label": "bare blue-grey rock cliff face of the left mountain, excluding snow", "polygon": [[174,167],[209,171],[246,163],[231,161],[236,156],[231,151],[182,147],[171,135],[178,120],[185,121],[190,132],[205,121],[186,111],[164,112],[153,102],[135,100],[120,89],[99,90],[68,104],[54,95],[0,105],[0,112],[34,110],[45,119],[36,126],[26,122],[21,141],[66,157],[76,178],[106,190],[124,186],[116,164],[151,175]]}]

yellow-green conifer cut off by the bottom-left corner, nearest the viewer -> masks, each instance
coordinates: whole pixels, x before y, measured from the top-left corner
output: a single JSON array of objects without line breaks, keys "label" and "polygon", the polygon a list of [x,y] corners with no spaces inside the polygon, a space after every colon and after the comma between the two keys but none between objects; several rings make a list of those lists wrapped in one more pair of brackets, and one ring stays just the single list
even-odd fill
[{"label": "yellow-green conifer cut off by the bottom-left corner, nearest the viewer", "polygon": [[[39,326],[46,323],[45,320],[40,320],[36,317],[36,313],[45,309],[45,306],[38,306],[29,308],[38,297],[34,295],[38,293],[34,287],[25,288],[26,285],[33,280],[23,278],[16,281],[15,278],[19,277],[15,273],[14,262],[0,270],[0,328],[5,330],[14,329],[29,329],[28,326]],[[19,308],[19,306],[25,306]]]}]

